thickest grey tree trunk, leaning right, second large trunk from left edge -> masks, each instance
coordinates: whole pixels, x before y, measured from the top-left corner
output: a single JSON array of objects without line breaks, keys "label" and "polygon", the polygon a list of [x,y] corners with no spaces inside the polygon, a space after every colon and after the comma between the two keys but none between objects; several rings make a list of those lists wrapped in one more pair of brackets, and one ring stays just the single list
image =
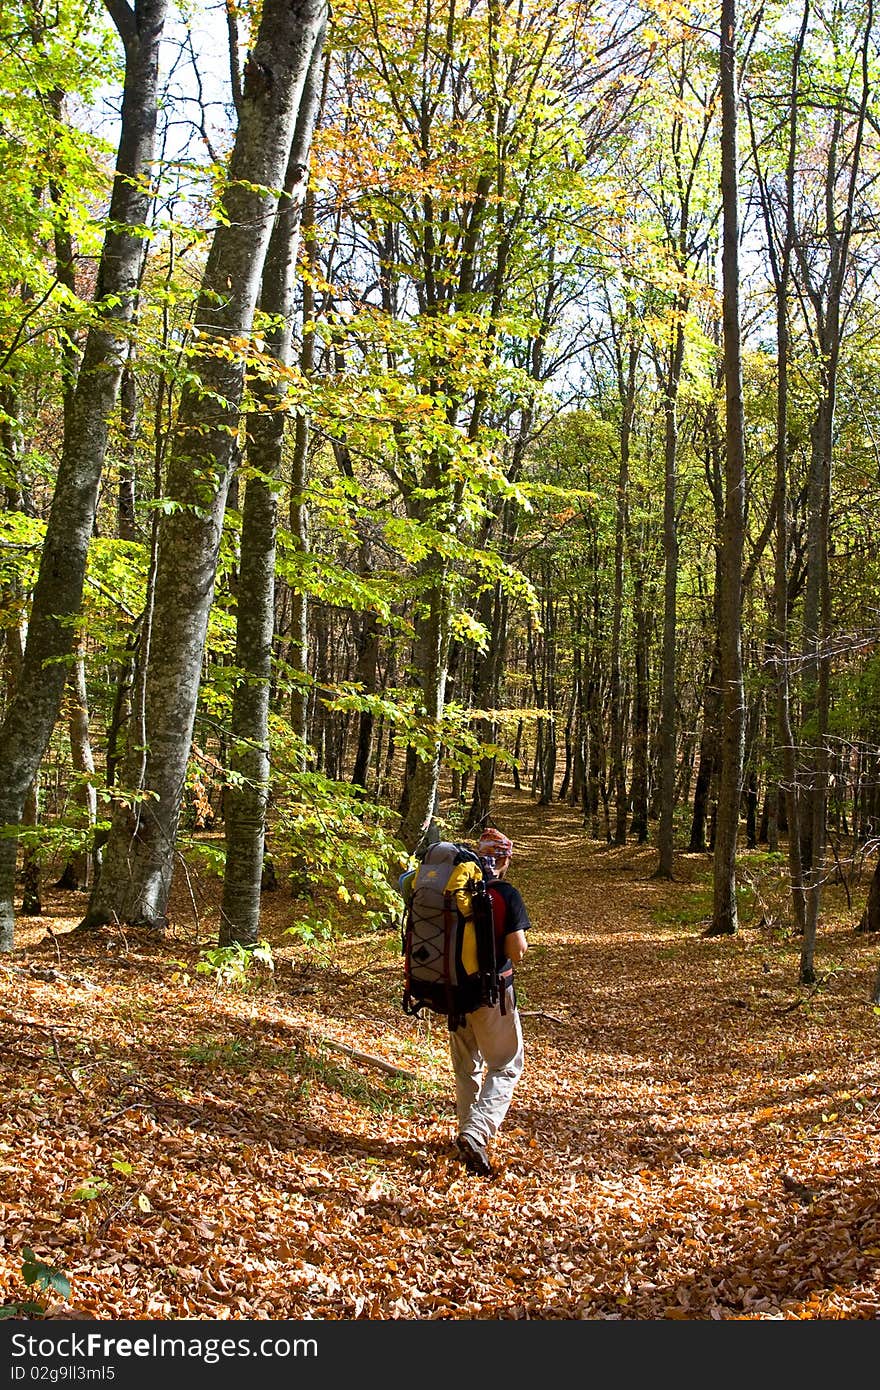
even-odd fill
[{"label": "thickest grey tree trunk, leaning right, second large trunk from left edge", "polygon": [[[143,799],[120,808],[83,926],[118,919],[163,926],[207,619],[235,461],[245,361],[225,346],[250,334],[277,193],[291,153],[324,0],[268,0],[250,53],[224,218],[196,309],[193,381],[171,443],[145,684]],[[203,345],[203,346],[202,346]],[[217,352],[215,349],[220,349]]]}]

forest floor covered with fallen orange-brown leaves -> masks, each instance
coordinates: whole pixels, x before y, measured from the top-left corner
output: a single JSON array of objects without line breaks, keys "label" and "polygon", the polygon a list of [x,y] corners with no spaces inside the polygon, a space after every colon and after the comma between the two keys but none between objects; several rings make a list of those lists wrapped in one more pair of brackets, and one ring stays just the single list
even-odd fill
[{"label": "forest floor covered with fallen orange-brown leaves", "polygon": [[445,1023],[403,1015],[396,934],[292,944],[282,887],[275,970],[235,987],[196,973],[184,885],[161,941],[74,933],[83,897],[47,894],[0,960],[7,1316],[880,1316],[865,894],[827,890],[808,988],[766,855],[737,935],[705,938],[708,856],[665,883],[570,808],[505,788],[496,817],[534,930],[492,1179],[455,1156]]}]

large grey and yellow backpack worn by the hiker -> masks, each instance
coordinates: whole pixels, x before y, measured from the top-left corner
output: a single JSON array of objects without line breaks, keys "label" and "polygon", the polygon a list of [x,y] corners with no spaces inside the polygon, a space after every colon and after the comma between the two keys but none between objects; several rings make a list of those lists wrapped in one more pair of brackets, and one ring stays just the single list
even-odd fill
[{"label": "large grey and yellow backpack worn by the hiker", "polygon": [[430,845],[403,916],[405,1013],[445,1013],[455,1030],[471,1009],[503,1009],[500,963],[481,860],[467,845]]}]

